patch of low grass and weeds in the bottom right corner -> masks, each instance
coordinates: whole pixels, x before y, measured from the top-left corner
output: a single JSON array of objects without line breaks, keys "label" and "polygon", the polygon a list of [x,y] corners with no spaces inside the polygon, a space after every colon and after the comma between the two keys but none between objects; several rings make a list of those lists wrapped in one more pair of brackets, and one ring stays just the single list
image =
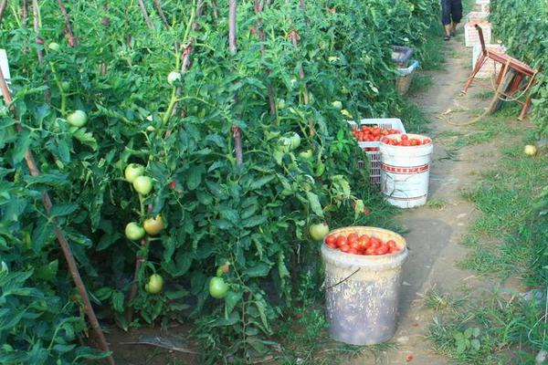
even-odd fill
[{"label": "patch of low grass and weeds in the bottom right corner", "polygon": [[548,345],[545,324],[537,320],[544,308],[536,300],[504,290],[473,293],[466,299],[437,292],[429,300],[437,314],[427,339],[452,363],[534,364],[536,351]]}]

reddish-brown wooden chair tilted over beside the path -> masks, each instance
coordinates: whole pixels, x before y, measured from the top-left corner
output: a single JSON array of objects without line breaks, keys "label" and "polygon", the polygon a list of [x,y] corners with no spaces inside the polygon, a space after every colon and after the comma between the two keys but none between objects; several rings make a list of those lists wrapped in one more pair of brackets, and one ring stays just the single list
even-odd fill
[{"label": "reddish-brown wooden chair tilted over beside the path", "polygon": [[[508,98],[508,99],[512,99],[522,103],[523,108],[519,117],[519,120],[522,120],[525,117],[525,114],[527,113],[529,106],[531,105],[530,90],[532,85],[535,83],[535,78],[537,74],[539,73],[539,70],[533,69],[532,67],[520,61],[519,59],[510,57],[509,55],[506,55],[494,49],[488,49],[487,47],[485,47],[485,39],[483,38],[483,30],[481,29],[481,26],[476,25],[476,29],[478,30],[478,34],[479,34],[479,43],[481,44],[481,54],[479,55],[478,61],[476,62],[476,65],[472,71],[472,74],[466,81],[466,84],[464,85],[464,89],[462,89],[462,92],[466,94],[470,85],[472,84],[472,81],[476,77],[476,74],[478,74],[479,70],[483,67],[483,65],[485,65],[486,62],[491,60],[495,63],[499,63],[501,64],[501,71],[499,72],[499,75],[497,76],[496,85],[499,86],[505,77],[510,76],[510,75],[507,75],[509,73],[512,75],[512,79],[509,85],[504,85],[504,88],[502,90],[500,90],[501,88],[495,89],[496,91],[498,91],[495,97]],[[526,78],[529,78],[529,82],[527,83],[526,88],[523,89],[522,88],[523,81]],[[524,102],[519,100],[520,97],[517,97],[517,98],[514,97],[514,94],[518,91],[522,94],[522,96],[525,96]]]}]

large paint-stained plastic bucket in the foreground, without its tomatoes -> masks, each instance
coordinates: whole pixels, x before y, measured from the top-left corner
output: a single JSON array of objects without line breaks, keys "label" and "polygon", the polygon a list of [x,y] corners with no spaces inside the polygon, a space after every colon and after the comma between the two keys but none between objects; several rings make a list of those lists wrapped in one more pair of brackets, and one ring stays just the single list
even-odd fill
[{"label": "large paint-stained plastic bucket in the foreground, without its tomatoes", "polygon": [[374,227],[336,229],[330,235],[373,235],[394,240],[390,255],[352,255],[321,245],[325,264],[325,301],[332,339],[351,345],[374,345],[391,339],[397,322],[406,240]]}]

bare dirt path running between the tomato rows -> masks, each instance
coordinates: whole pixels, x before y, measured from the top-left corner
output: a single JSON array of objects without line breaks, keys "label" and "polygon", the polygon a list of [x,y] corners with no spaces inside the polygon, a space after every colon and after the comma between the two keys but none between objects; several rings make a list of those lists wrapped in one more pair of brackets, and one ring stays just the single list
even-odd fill
[{"label": "bare dirt path running between the tomato rows", "polygon": [[[382,359],[371,356],[353,360],[352,364],[448,364],[431,351],[425,339],[432,313],[421,306],[421,294],[432,287],[451,292],[458,287],[482,285],[471,272],[456,266],[467,254],[459,245],[474,217],[474,206],[461,196],[463,189],[477,183],[481,172],[494,168],[498,152],[490,143],[458,150],[451,142],[458,135],[471,132],[470,127],[449,124],[438,116],[447,110],[454,123],[473,120],[489,100],[477,94],[484,89],[473,86],[467,96],[460,89],[469,77],[471,48],[464,47],[462,29],[447,45],[445,70],[429,73],[432,85],[415,98],[433,120],[430,135],[435,143],[430,175],[431,205],[404,211],[399,223],[406,228],[410,255],[404,267],[404,284],[400,298],[399,328],[393,339],[397,349],[383,353]],[[475,97],[476,95],[476,97]]]}]

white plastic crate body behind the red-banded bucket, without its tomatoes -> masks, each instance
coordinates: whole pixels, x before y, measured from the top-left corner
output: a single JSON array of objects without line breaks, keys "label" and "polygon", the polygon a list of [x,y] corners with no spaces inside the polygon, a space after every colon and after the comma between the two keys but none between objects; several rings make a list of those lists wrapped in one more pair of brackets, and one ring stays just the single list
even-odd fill
[{"label": "white plastic crate body behind the red-banded bucket, without its tomatoes", "polygon": [[[404,124],[402,120],[397,118],[374,118],[374,119],[364,119],[360,120],[360,125],[353,121],[347,120],[348,124],[352,128],[358,128],[362,125],[378,125],[380,128],[390,129],[390,130],[399,130],[402,133],[406,133]],[[358,142],[358,145],[365,151],[366,149],[376,149],[375,151],[365,151],[369,160],[369,178],[370,182],[377,187],[381,186],[381,154],[379,152],[380,141],[371,141],[371,142]],[[359,161],[357,167],[359,169],[365,168],[365,161]]]}]

